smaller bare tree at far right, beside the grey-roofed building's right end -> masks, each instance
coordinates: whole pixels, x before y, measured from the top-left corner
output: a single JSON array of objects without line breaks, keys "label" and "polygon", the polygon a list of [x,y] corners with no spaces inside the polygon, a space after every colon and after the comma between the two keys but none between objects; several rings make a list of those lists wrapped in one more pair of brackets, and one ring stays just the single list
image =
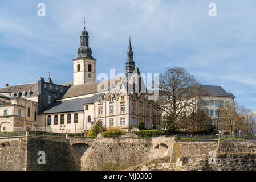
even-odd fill
[{"label": "smaller bare tree at far right, beside the grey-roofed building's right end", "polygon": [[234,126],[242,125],[243,118],[239,115],[241,107],[238,106],[237,102],[231,102],[225,107],[220,107],[220,117],[221,121],[225,126],[229,127],[230,137],[233,134]]}]

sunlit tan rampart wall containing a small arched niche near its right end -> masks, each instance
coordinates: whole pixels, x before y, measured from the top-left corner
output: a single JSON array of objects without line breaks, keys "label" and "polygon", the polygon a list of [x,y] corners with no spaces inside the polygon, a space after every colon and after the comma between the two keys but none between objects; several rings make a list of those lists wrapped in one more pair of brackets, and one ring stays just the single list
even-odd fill
[{"label": "sunlit tan rampart wall containing a small arched niche near its right end", "polygon": [[[92,146],[82,156],[82,170],[124,169],[155,159],[158,155],[168,156],[171,139],[95,138]],[[159,144],[164,144],[164,148],[159,150]]]}]

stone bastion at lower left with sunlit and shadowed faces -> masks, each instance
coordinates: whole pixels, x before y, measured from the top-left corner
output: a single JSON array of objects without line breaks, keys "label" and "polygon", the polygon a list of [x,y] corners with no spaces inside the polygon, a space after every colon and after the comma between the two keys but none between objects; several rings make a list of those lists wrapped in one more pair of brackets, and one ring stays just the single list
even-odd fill
[{"label": "stone bastion at lower left with sunlit and shadowed faces", "polygon": [[[44,151],[46,164],[38,164],[38,152]],[[0,139],[0,170],[75,170],[69,140],[46,137]]]}]

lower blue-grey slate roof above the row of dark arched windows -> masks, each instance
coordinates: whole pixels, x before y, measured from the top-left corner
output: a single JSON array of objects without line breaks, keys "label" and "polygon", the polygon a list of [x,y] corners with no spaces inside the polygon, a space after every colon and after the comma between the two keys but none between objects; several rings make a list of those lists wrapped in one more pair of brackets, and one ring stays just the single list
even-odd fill
[{"label": "lower blue-grey slate roof above the row of dark arched windows", "polygon": [[83,111],[84,110],[83,104],[90,104],[90,103],[96,102],[100,95],[103,95],[103,94],[94,94],[94,96],[87,97],[87,98],[58,101],[58,102],[55,102],[54,105],[48,107],[46,110],[42,111],[42,113],[39,113],[39,114]]}]

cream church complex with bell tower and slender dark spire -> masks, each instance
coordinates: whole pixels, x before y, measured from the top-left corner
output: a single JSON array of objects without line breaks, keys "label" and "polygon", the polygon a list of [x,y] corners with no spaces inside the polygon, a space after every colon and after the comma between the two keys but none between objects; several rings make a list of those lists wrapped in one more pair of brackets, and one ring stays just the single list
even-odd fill
[{"label": "cream church complex with bell tower and slender dark spire", "polygon": [[38,130],[57,133],[88,131],[96,121],[103,127],[135,131],[160,125],[160,111],[148,104],[147,89],[133,61],[128,44],[125,76],[96,81],[96,59],[92,57],[86,27],[80,36],[78,56],[73,61],[70,83],[54,84],[39,78],[35,83],[0,88],[0,131]]}]

